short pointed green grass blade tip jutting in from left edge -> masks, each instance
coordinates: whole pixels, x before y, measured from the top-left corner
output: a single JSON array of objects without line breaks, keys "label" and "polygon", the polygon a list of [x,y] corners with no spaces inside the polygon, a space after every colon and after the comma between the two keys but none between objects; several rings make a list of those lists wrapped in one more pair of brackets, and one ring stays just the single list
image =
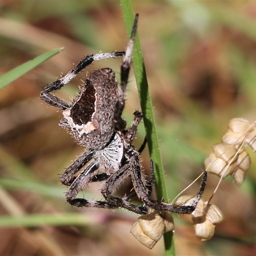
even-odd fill
[{"label": "short pointed green grass blade tip jutting in from left edge", "polygon": [[12,83],[14,80],[18,79],[20,76],[23,76],[28,71],[30,71],[31,69],[40,65],[45,60],[50,59],[52,56],[61,52],[62,50],[63,50],[63,47],[58,48],[58,49],[53,50],[53,51],[50,51],[50,52],[46,52],[46,53],[34,58],[33,60],[29,60],[29,61],[21,64],[20,66],[18,66],[16,68],[13,68],[12,70],[8,71],[7,73],[5,73],[4,75],[2,75],[0,77],[0,90],[2,88],[4,88],[4,86],[6,86],[7,84]]}]

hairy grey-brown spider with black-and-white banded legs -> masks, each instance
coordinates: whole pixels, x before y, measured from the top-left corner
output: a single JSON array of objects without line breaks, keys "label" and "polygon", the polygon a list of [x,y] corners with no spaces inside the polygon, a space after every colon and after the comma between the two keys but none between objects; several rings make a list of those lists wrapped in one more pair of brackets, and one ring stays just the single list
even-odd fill
[{"label": "hairy grey-brown spider with black-and-white banded legs", "polygon": [[[206,172],[204,172],[196,199],[191,205],[180,206],[153,200],[150,196],[154,185],[154,165],[151,161],[151,174],[148,182],[141,170],[139,158],[147,140],[145,138],[138,151],[132,145],[142,113],[134,112],[134,120],[129,129],[126,129],[126,122],[121,117],[137,21],[138,14],[135,16],[131,38],[125,52],[88,55],[66,76],[48,84],[40,94],[42,100],[62,111],[63,118],[60,120],[60,127],[68,130],[75,140],[85,147],[84,153],[60,175],[60,181],[68,186],[66,192],[68,203],[77,207],[110,209],[123,207],[139,214],[147,213],[150,207],[160,211],[191,213],[195,210],[204,192]],[[118,89],[114,71],[110,68],[100,68],[87,76],[83,87],[72,103],[51,93],[68,84],[93,61],[119,56],[124,56],[121,66],[121,89]],[[132,179],[135,192],[122,198],[112,196],[111,194],[118,185],[128,176]],[[101,193],[106,201],[76,198],[87,184],[96,181],[105,181]],[[143,203],[142,206],[129,202],[134,196],[138,196]]]}]

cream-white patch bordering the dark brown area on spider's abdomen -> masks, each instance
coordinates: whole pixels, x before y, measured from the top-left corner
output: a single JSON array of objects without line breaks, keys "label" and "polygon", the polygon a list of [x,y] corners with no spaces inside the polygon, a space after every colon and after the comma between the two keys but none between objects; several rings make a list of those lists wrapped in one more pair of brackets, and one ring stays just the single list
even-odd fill
[{"label": "cream-white patch bordering the dark brown area on spider's abdomen", "polygon": [[67,123],[71,127],[72,131],[76,131],[78,133],[78,136],[81,138],[82,135],[88,134],[89,132],[92,132],[96,129],[96,127],[92,124],[91,121],[87,122],[86,124],[75,124],[72,117],[70,116],[70,108],[66,109],[62,112],[64,118],[67,120]]}]

